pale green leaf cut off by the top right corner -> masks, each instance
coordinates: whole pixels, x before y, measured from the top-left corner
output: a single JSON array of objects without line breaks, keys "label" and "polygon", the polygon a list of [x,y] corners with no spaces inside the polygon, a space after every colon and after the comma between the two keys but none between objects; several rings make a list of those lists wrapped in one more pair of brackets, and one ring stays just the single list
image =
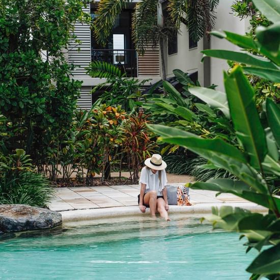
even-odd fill
[{"label": "pale green leaf cut off by the top right corner", "polygon": [[278,0],[253,0],[260,12],[272,22],[280,21],[280,3]]}]

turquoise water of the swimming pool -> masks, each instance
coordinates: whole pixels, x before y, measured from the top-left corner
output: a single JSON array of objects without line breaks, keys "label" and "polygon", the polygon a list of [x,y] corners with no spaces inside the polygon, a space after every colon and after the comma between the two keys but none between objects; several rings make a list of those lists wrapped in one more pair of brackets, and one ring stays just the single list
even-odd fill
[{"label": "turquoise water of the swimming pool", "polygon": [[248,279],[244,241],[199,218],[73,223],[0,239],[0,279]]}]

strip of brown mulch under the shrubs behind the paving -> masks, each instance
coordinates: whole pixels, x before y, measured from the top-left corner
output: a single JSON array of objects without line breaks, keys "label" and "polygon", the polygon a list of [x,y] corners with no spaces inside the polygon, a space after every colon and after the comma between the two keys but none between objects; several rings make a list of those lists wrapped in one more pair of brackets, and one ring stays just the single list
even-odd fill
[{"label": "strip of brown mulch under the shrubs behind the paving", "polygon": [[[76,180],[71,179],[69,182],[63,182],[62,180],[58,180],[57,182],[52,182],[55,187],[85,187],[85,180]],[[95,187],[95,186],[118,186],[118,185],[127,185],[132,184],[130,180],[127,178],[119,178],[112,177],[110,180],[101,180],[101,178],[95,178],[91,181],[91,184],[87,187]]]}]

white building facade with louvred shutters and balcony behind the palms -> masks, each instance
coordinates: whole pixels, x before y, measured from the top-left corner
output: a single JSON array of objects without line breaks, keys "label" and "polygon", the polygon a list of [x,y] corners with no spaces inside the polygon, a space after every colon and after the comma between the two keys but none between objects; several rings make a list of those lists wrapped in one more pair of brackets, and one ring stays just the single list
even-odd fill
[{"label": "white building facade with louvred shutters and balcony behind the palms", "polygon": [[[121,16],[116,20],[113,30],[113,36],[105,48],[96,45],[90,26],[87,24],[76,23],[75,35],[80,41],[69,42],[68,60],[78,66],[73,71],[73,78],[82,80],[81,96],[78,100],[78,106],[82,109],[90,109],[92,106],[92,87],[103,82],[100,78],[91,78],[86,74],[86,67],[91,61],[101,60],[109,63],[118,64],[125,69],[128,76],[137,77],[139,80],[150,78],[149,83],[154,83],[161,79],[161,69],[159,62],[159,50],[147,49],[144,56],[137,55],[133,42],[131,40],[131,14],[135,2],[131,3]],[[227,30],[239,34],[247,32],[248,24],[245,20],[234,17],[231,11],[232,1],[220,1],[216,10],[217,19],[215,30]],[[95,7],[88,6],[85,12],[94,16]],[[173,76],[174,69],[180,69],[187,73],[194,73],[202,86],[214,83],[219,90],[223,89],[222,70],[229,67],[226,61],[218,59],[209,59],[208,62],[202,63],[201,51],[205,46],[209,47],[206,39],[195,43],[189,39],[186,26],[182,24],[180,33],[173,42],[166,44],[165,48],[165,68],[167,77]],[[230,49],[237,50],[238,47],[221,40],[211,37],[210,48],[212,49]]]}]

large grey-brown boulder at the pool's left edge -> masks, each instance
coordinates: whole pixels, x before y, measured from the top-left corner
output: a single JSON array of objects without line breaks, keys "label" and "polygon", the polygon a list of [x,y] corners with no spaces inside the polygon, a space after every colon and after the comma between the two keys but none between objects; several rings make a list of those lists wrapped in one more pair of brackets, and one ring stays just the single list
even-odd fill
[{"label": "large grey-brown boulder at the pool's left edge", "polygon": [[22,204],[0,205],[0,233],[51,229],[62,224],[60,213]]}]

